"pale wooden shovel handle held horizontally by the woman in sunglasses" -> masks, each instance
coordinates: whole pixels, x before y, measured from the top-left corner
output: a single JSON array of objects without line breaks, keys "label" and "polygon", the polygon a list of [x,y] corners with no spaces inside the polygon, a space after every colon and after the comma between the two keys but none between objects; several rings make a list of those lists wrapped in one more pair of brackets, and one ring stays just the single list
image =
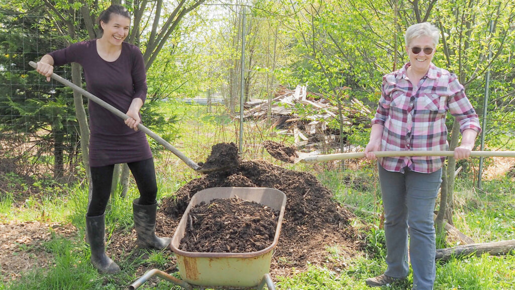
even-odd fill
[{"label": "pale wooden shovel handle held horizontally by the woman in sunglasses", "polygon": [[[454,156],[454,151],[374,151],[376,157],[402,156]],[[317,163],[330,160],[364,158],[363,152],[336,153],[310,156],[302,159],[305,163]],[[515,151],[472,151],[470,157],[515,157]]]}]

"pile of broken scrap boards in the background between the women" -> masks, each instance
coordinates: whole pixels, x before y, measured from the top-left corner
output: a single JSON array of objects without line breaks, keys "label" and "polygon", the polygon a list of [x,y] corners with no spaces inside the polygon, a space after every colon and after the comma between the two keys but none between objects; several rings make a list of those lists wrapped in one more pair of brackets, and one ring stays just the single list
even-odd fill
[{"label": "pile of broken scrap boards in the background between the women", "polygon": [[[370,126],[370,110],[361,101],[351,99],[345,89],[339,92],[344,127]],[[246,102],[244,118],[265,120],[270,108],[272,128],[278,130],[277,134],[294,135],[296,146],[325,141],[332,147],[340,135],[339,112],[335,103],[321,94],[308,92],[306,86],[297,86],[295,90],[281,87],[271,100]],[[329,122],[335,125],[328,126]]]}]

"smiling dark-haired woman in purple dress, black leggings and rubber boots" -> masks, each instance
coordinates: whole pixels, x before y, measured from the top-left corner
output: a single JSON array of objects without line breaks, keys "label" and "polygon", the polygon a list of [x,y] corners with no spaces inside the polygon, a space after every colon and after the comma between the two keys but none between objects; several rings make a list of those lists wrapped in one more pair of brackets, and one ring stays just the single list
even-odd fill
[{"label": "smiling dark-haired woman in purple dress, black leggings and rubber boots", "polygon": [[105,211],[115,164],[128,164],[140,191],[140,198],[132,203],[138,246],[164,249],[170,244],[169,238],[155,234],[156,173],[145,133],[138,131],[140,109],[147,94],[145,64],[138,47],[124,42],[130,22],[131,17],[125,7],[111,5],[99,15],[100,38],[74,43],[46,54],[37,68],[50,80],[54,66],[80,63],[88,91],[127,112],[130,117],[124,121],[94,102],[88,104],[93,192],[86,215],[86,229],[91,262],[101,273],[120,270],[105,252]]}]

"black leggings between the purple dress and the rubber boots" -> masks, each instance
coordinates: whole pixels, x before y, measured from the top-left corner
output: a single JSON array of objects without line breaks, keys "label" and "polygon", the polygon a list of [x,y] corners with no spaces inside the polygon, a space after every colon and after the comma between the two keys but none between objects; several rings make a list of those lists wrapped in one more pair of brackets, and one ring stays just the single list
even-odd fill
[{"label": "black leggings between the purple dress and the rubber boots", "polygon": [[[157,202],[156,196],[158,186],[156,182],[156,171],[152,158],[127,163],[136,185],[140,190],[140,201],[138,204],[151,205]],[[111,196],[111,184],[113,181],[114,165],[91,167],[91,182],[93,192],[91,203],[88,207],[89,217],[101,216],[106,211],[109,197]]]}]

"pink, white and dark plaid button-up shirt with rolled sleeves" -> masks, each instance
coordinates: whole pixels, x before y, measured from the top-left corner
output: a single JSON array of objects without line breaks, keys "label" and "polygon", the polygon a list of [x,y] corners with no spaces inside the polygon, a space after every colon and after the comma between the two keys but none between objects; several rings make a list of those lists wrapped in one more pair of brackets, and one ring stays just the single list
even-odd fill
[{"label": "pink, white and dark plaid button-up shirt with rolled sleeves", "polygon": [[[479,119],[455,74],[437,68],[433,63],[417,87],[409,81],[406,69],[383,77],[382,95],[372,119],[384,126],[382,151],[448,150],[447,111],[459,121],[459,130],[480,132]],[[404,172],[408,167],[421,173],[435,172],[445,157],[382,157],[379,162],[388,171]]]}]

